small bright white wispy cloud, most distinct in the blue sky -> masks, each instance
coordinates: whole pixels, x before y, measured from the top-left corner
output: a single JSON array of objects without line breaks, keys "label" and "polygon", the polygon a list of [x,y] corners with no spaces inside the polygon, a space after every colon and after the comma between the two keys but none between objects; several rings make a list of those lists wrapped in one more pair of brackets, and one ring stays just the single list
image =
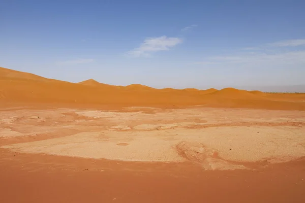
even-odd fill
[{"label": "small bright white wispy cloud, most distinct in the blue sky", "polygon": [[167,51],[180,43],[182,43],[182,39],[180,38],[168,38],[166,36],[146,38],[140,47],[128,51],[127,54],[133,57],[147,57],[152,52]]}]

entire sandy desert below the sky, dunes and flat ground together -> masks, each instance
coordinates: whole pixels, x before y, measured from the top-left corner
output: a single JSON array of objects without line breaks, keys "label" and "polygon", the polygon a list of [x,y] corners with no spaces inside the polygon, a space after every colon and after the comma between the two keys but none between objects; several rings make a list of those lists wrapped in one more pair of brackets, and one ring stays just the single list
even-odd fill
[{"label": "entire sandy desert below the sky, dunes and flat ground together", "polygon": [[305,94],[0,67],[1,202],[305,202]]}]

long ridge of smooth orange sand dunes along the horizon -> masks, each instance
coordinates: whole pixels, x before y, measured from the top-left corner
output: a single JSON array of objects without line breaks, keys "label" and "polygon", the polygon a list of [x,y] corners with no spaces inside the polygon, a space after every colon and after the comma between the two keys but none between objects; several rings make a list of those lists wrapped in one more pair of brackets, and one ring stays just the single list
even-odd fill
[{"label": "long ridge of smooth orange sand dunes along the horizon", "polygon": [[154,89],[133,84],[107,85],[93,79],[80,83],[47,79],[0,67],[0,106],[52,105],[63,107],[158,106],[231,107],[305,110],[305,94],[265,94],[234,88]]}]

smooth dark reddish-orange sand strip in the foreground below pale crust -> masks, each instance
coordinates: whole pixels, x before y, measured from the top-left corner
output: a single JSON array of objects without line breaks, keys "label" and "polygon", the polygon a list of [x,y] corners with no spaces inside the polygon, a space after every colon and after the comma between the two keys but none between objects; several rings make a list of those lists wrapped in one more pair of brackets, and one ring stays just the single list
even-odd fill
[{"label": "smooth dark reddish-orange sand strip in the foreground below pale crust", "polygon": [[[304,160],[263,170],[202,171],[144,163],[15,153],[0,149],[2,202],[297,202]],[[113,200],[115,198],[115,200]]]}]

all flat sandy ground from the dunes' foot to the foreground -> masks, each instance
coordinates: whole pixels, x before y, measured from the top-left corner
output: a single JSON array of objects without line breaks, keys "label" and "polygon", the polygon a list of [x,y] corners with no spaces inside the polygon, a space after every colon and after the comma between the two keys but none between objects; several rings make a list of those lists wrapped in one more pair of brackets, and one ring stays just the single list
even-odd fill
[{"label": "all flat sandy ground from the dunes' foot to the foreground", "polygon": [[199,107],[2,109],[0,201],[304,202],[304,120]]}]

